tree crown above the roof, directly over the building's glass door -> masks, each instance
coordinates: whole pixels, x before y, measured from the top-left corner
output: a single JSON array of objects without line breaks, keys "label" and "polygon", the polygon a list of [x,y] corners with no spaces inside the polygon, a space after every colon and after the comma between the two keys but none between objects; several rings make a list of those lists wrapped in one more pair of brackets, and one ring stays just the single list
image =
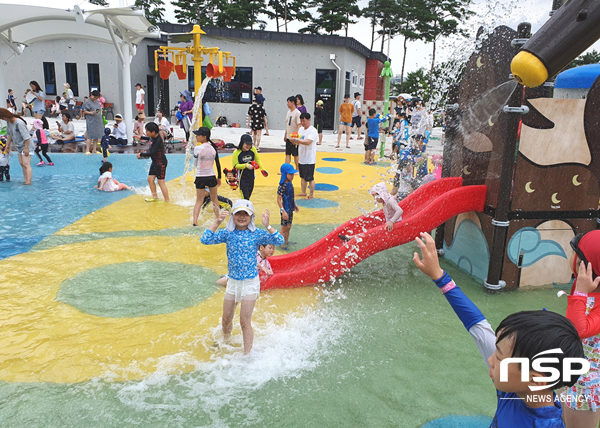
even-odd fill
[{"label": "tree crown above the roof, directly over the building's glass door", "polygon": [[353,17],[359,17],[361,10],[357,0],[315,0],[311,6],[317,7],[316,16],[311,16],[310,24],[299,30],[300,33],[333,34],[342,28],[348,36],[348,25],[355,24]]}]

